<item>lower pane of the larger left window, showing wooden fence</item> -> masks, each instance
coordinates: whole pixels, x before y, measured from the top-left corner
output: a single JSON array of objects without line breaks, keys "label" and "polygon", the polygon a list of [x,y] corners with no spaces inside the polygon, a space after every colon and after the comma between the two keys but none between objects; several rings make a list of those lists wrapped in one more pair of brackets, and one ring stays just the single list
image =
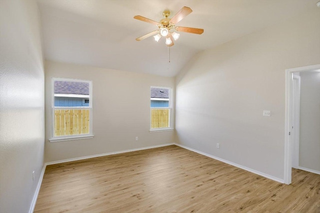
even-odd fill
[{"label": "lower pane of the larger left window, showing wooden fence", "polygon": [[90,123],[90,110],[54,110],[54,121],[54,136],[88,134]]}]

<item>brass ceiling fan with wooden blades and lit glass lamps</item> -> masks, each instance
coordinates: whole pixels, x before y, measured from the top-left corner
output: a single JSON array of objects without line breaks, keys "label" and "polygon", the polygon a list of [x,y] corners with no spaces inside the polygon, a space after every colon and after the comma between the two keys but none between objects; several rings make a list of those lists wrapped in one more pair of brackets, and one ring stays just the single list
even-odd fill
[{"label": "brass ceiling fan with wooden blades and lit glass lamps", "polygon": [[170,11],[164,10],[162,12],[162,15],[164,16],[164,18],[161,19],[159,22],[143,17],[141,15],[136,15],[133,18],[157,25],[159,29],[149,32],[145,35],[142,35],[141,37],[138,37],[135,40],[140,41],[151,35],[154,35],[153,36],[154,40],[158,41],[163,36],[165,37],[165,44],[167,46],[173,46],[174,45],[173,40],[177,40],[180,36],[180,34],[177,33],[176,31],[202,34],[203,29],[185,27],[185,26],[175,26],[177,22],[182,20],[182,18],[184,18],[191,12],[192,12],[192,9],[190,7],[183,6],[172,18],[168,18],[170,15]]}]

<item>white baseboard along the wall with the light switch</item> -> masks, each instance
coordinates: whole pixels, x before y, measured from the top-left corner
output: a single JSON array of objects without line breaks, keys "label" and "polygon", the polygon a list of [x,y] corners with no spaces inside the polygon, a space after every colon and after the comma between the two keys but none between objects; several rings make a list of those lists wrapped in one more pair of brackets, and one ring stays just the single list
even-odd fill
[{"label": "white baseboard along the wall with the light switch", "polygon": [[213,158],[213,159],[218,160],[218,161],[221,161],[221,162],[223,162],[223,163],[226,163],[226,164],[235,166],[235,167],[237,167],[237,168],[246,170],[246,171],[248,171],[248,172],[254,173],[254,174],[259,175],[259,176],[262,176],[262,177],[264,177],[264,178],[271,179],[271,180],[276,181],[276,182],[279,182],[279,183],[281,183],[281,184],[284,183],[284,180],[281,180],[281,179],[279,179],[279,178],[276,178],[276,177],[273,177],[273,176],[270,176],[270,175],[261,173],[261,172],[259,172],[259,171],[252,170],[252,169],[250,169],[250,168],[247,168],[247,167],[244,167],[244,166],[241,166],[241,165],[232,163],[232,162],[230,162],[230,161],[226,161],[226,160],[224,160],[224,159],[221,159],[221,158],[218,158],[218,157],[215,157],[215,156],[212,156],[212,155],[209,155],[209,154],[206,154],[206,153],[203,153],[203,152],[200,152],[200,151],[191,149],[191,148],[186,147],[186,146],[183,146],[183,145],[181,145],[181,144],[174,144],[174,145],[179,146],[179,147],[182,147],[182,148],[187,149],[187,150],[190,150],[190,151],[192,151],[192,152],[196,152],[196,153],[198,153],[198,154],[200,154],[200,155],[204,155],[204,156],[206,156],[206,157]]}]

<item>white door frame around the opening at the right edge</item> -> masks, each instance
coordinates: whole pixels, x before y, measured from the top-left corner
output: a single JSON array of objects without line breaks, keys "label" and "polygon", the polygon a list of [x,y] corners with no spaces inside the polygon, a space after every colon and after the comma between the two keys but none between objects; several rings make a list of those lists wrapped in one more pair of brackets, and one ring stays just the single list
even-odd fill
[{"label": "white door frame around the opening at the right edge", "polygon": [[285,118],[284,118],[284,184],[291,184],[292,168],[292,77],[294,72],[304,72],[320,69],[320,64],[296,67],[285,70]]}]

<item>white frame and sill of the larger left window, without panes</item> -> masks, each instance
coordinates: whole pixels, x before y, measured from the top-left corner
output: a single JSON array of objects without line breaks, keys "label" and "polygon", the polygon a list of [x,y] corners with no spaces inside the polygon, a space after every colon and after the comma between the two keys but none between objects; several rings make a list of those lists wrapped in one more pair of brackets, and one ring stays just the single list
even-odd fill
[{"label": "white frame and sill of the larger left window, without panes", "polygon": [[[89,106],[76,106],[76,107],[61,107],[54,106],[54,81],[73,81],[73,82],[83,82],[89,83]],[[54,110],[59,109],[88,109],[89,110],[89,133],[86,134],[77,134],[77,135],[63,135],[63,136],[54,136],[55,131],[55,117]],[[91,80],[81,80],[81,79],[72,79],[72,78],[55,78],[51,79],[51,138],[50,142],[60,142],[60,141],[71,141],[71,140],[80,140],[80,139],[90,139],[93,138],[92,134],[92,81]]]}]

